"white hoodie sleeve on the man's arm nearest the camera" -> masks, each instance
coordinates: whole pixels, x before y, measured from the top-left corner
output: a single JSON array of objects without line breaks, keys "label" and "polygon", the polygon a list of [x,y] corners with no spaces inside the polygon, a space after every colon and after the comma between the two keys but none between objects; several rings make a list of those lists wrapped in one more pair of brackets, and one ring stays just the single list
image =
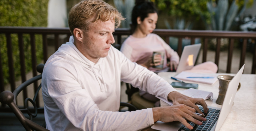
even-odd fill
[{"label": "white hoodie sleeve on the man's arm nearest the camera", "polygon": [[[154,124],[151,108],[133,112],[100,110],[89,93],[79,84],[77,72],[75,67],[67,62],[53,62],[45,67],[42,79],[43,95],[48,95],[47,99],[54,101],[45,101],[49,113],[55,112],[56,116],[65,115],[69,122],[83,131],[141,130]],[[57,108],[53,107],[55,104]],[[62,121],[61,124],[65,125],[65,121]]]}]

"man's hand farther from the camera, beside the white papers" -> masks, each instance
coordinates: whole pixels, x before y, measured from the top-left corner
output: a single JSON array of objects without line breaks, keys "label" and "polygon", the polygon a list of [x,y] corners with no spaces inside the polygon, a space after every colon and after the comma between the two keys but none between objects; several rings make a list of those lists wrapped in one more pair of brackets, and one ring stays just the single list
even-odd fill
[{"label": "man's hand farther from the camera, beside the white papers", "polygon": [[[191,98],[191,97],[185,96],[177,91],[170,92],[168,94],[168,99],[172,100],[173,105],[184,104],[184,105],[194,108],[198,113],[203,114],[200,111],[199,107],[195,105],[195,104],[198,104],[198,105],[203,106],[204,112],[206,114],[208,112],[207,104],[205,103],[204,99]],[[203,114],[203,116],[204,116],[204,114]]]}]

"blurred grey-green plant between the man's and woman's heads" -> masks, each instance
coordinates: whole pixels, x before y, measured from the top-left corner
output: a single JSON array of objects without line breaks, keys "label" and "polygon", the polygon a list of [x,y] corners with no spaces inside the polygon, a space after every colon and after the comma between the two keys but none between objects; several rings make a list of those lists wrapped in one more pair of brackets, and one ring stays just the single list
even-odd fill
[{"label": "blurred grey-green plant between the man's and woman's heads", "polygon": [[122,16],[125,18],[124,21],[121,22],[122,28],[130,28],[131,23],[131,11],[134,7],[135,1],[134,0],[114,0],[114,4],[119,12],[121,12]]}]

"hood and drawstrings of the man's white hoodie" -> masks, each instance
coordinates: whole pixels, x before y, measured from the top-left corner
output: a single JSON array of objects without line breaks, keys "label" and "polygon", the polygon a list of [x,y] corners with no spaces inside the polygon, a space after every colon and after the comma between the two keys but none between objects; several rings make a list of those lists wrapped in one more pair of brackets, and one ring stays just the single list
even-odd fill
[{"label": "hood and drawstrings of the man's white hoodie", "polygon": [[[87,59],[74,45],[74,37],[73,36],[70,36],[69,42],[66,42],[66,44],[62,44],[57,52],[66,53],[67,55],[72,56],[75,60],[79,61],[79,63],[81,63],[81,66],[83,66],[85,68],[89,68],[89,70],[91,70],[93,72],[93,74],[95,75],[95,77],[100,85],[101,92],[103,92],[103,89],[105,92],[108,91],[106,83],[105,83],[103,75],[102,75],[102,69],[101,69],[102,61],[104,60],[104,58],[99,58],[99,60],[96,63],[93,63],[92,61]],[[99,74],[101,74],[101,76],[97,75],[95,67],[99,68]],[[102,84],[101,84],[102,82],[100,82],[99,77],[102,77],[104,87],[102,87]]]}]

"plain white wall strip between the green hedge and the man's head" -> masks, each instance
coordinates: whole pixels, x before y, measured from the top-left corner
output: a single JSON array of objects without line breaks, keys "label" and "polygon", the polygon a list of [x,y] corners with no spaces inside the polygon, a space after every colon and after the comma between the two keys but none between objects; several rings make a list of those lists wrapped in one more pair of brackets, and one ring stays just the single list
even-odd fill
[{"label": "plain white wall strip between the green hedge and the man's head", "polygon": [[67,4],[66,0],[49,0],[47,27],[66,27]]}]

